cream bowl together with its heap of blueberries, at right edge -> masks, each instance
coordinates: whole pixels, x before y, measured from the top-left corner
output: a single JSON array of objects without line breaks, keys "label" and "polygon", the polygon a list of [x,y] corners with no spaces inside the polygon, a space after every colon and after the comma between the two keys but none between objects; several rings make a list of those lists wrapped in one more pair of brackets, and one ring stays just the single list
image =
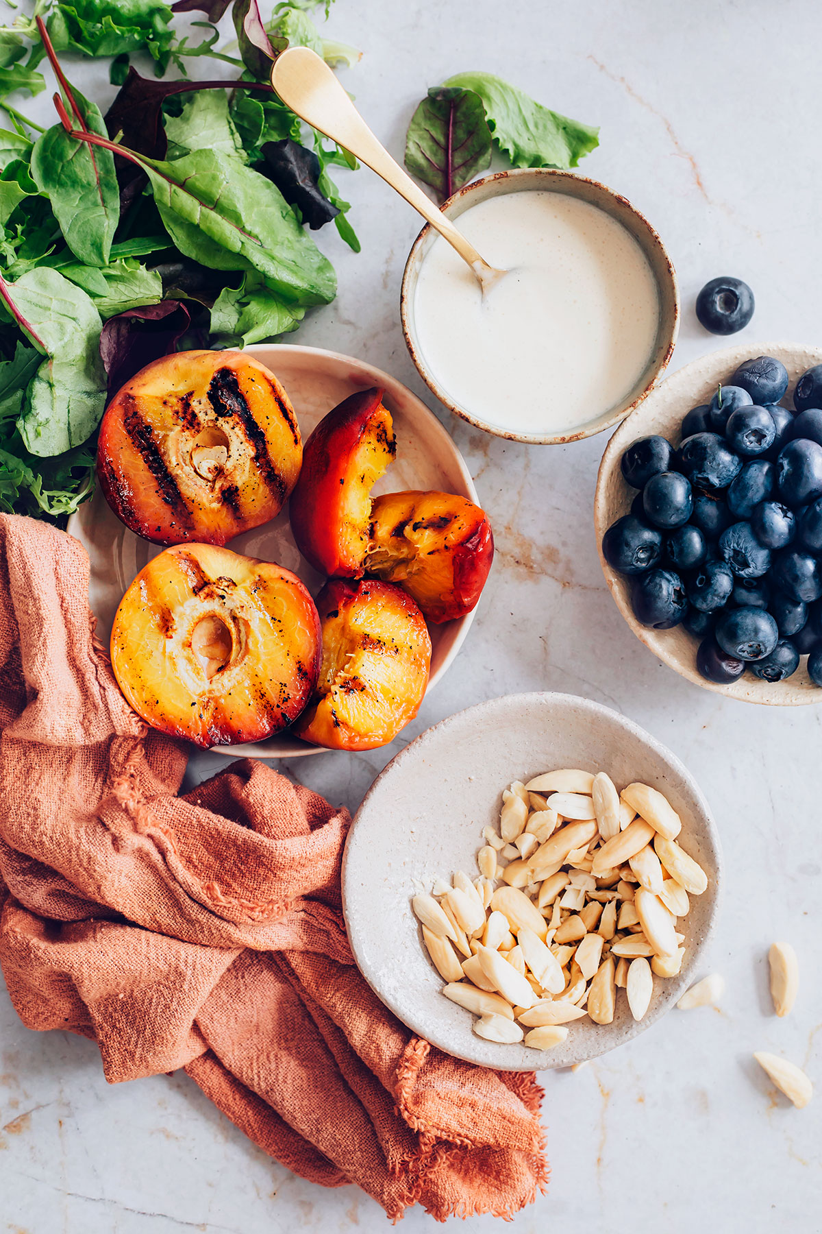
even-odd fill
[{"label": "cream bowl together with its heap of blueberries, at right edge", "polygon": [[674,373],[611,437],[594,518],[616,605],[661,660],[747,702],[822,702],[822,348]]}]

